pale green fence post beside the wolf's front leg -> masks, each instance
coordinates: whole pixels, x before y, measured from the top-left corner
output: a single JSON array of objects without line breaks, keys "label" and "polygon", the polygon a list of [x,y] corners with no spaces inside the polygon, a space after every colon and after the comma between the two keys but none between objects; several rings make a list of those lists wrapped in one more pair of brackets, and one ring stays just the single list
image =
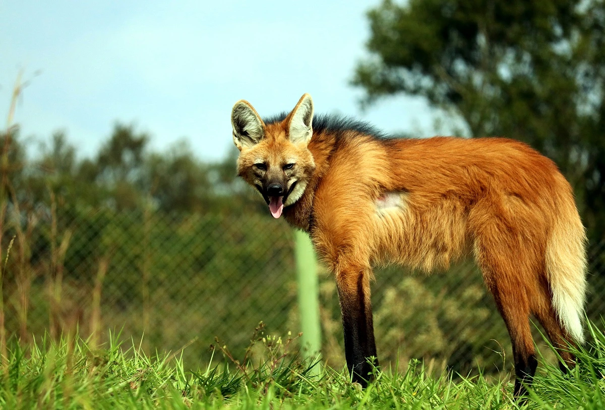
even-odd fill
[{"label": "pale green fence post beside the wolf's front leg", "polygon": [[[317,262],[309,236],[294,231],[296,279],[298,281],[298,316],[302,330],[302,346],[306,357],[318,357],[321,353],[321,327],[319,326],[319,285]],[[319,366],[315,366],[319,374]]]}]

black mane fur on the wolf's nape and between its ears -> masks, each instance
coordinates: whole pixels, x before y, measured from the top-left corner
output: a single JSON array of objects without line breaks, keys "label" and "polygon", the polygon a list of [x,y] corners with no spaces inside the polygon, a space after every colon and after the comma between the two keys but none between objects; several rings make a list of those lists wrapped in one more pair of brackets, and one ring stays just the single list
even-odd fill
[{"label": "black mane fur on the wolf's nape and between its ears", "polygon": [[[283,121],[287,116],[287,112],[280,112],[263,119],[263,121],[267,125],[274,124]],[[359,134],[371,135],[379,139],[393,138],[370,123],[353,117],[342,116],[340,114],[319,114],[313,117],[313,134],[321,134],[321,132],[336,132],[338,134],[342,131],[355,131],[359,132]]]}]

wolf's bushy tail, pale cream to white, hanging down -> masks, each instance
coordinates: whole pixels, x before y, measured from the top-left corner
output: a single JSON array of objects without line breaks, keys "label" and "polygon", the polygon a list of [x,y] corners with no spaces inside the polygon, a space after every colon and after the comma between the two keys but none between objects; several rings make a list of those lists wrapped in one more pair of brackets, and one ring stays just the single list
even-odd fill
[{"label": "wolf's bushy tail, pale cream to white, hanging down", "polygon": [[546,245],[546,270],[552,289],[552,305],[561,325],[577,342],[583,343],[586,232],[574,200],[566,198],[562,202]]}]

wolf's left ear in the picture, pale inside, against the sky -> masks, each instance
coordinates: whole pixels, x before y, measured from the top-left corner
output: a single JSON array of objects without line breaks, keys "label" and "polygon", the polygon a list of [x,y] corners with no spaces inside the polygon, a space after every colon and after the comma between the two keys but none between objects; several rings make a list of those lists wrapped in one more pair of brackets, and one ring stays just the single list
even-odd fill
[{"label": "wolf's left ear in the picture, pale inside, against the sky", "polygon": [[241,151],[252,148],[264,138],[264,124],[258,112],[249,102],[239,100],[231,110],[231,125],[233,126],[233,142]]}]

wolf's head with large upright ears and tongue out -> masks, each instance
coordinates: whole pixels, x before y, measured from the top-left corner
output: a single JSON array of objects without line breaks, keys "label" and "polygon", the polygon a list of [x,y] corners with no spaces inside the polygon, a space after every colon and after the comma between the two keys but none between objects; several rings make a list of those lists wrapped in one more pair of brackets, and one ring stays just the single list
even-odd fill
[{"label": "wolf's head with large upright ears and tongue out", "polygon": [[286,118],[266,125],[249,102],[233,106],[233,141],[240,150],[237,172],[256,187],[274,218],[300,199],[315,161],[307,149],[313,136],[313,100],[304,94]]}]

